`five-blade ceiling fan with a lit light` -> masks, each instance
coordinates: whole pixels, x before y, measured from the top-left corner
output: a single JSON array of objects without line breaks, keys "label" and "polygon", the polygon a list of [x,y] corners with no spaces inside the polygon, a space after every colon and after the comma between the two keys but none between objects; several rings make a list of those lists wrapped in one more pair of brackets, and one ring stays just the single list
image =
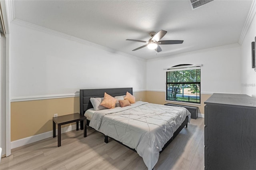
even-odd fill
[{"label": "five-blade ceiling fan with a lit light", "polygon": [[149,49],[155,49],[157,52],[162,51],[161,47],[159,44],[178,44],[178,43],[183,43],[183,40],[161,40],[161,38],[164,37],[164,35],[167,33],[167,31],[160,30],[158,33],[156,32],[150,32],[149,35],[151,38],[148,41],[142,41],[142,40],[131,40],[131,39],[126,39],[128,41],[133,41],[133,42],[144,42],[147,43],[146,45],[143,45],[141,47],[138,47],[132,51],[136,51],[138,49],[141,49],[143,47],[148,47]]}]

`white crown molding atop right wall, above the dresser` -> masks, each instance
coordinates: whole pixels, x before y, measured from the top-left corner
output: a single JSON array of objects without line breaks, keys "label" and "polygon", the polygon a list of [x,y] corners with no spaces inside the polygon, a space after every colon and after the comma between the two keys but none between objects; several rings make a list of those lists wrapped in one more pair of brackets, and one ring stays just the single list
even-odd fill
[{"label": "white crown molding atop right wall, above the dresser", "polygon": [[250,25],[252,24],[252,20],[253,20],[255,14],[256,14],[256,1],[253,0],[250,11],[249,11],[249,13],[247,15],[247,18],[246,18],[246,21],[244,23],[244,28],[242,30],[240,39],[238,41],[239,44],[242,44],[244,42],[244,38],[245,38],[245,36],[248,32],[248,29],[250,28]]}]

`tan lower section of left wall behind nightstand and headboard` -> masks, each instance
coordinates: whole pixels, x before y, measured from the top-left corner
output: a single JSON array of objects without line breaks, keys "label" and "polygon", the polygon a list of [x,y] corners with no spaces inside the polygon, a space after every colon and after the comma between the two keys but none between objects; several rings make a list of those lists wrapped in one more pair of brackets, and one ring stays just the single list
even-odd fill
[{"label": "tan lower section of left wall behind nightstand and headboard", "polygon": [[[133,95],[136,101],[146,101],[146,91]],[[52,117],[56,113],[58,116],[80,113],[79,97],[12,102],[11,141],[51,131]]]}]

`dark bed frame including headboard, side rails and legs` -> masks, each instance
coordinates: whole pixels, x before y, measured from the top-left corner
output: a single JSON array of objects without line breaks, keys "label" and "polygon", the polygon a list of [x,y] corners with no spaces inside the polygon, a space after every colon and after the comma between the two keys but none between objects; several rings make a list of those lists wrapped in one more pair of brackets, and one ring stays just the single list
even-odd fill
[{"label": "dark bed frame including headboard, side rails and legs", "polygon": [[[91,97],[104,97],[104,92],[108,93],[109,95],[111,95],[112,97],[115,96],[122,96],[122,95],[126,95],[126,92],[129,92],[132,94],[132,88],[114,88],[114,89],[80,89],[80,114],[84,115],[85,111],[93,108],[92,103],[90,101]],[[90,121],[87,120],[87,126],[89,126]],[[180,127],[174,132],[173,136],[170,138],[170,140],[168,140],[168,142],[164,145],[164,147],[162,148],[162,150],[160,151],[160,153],[168,146],[168,144],[170,144],[170,142],[172,142],[172,140],[179,134],[179,132],[184,128],[184,127],[188,127],[188,117],[186,117],[185,121],[182,123],[182,125],[180,125]],[[84,127],[84,123],[83,121],[80,121],[80,128],[83,129]],[[105,140],[104,142],[108,143],[108,136],[106,136],[104,134]],[[115,140],[115,139],[114,139]],[[116,140],[117,142],[119,142],[120,144],[122,144],[122,142]],[[124,146],[126,146],[125,144],[122,144]],[[135,149],[130,148],[128,146],[126,146],[127,148],[133,150],[134,152],[136,152]]]}]

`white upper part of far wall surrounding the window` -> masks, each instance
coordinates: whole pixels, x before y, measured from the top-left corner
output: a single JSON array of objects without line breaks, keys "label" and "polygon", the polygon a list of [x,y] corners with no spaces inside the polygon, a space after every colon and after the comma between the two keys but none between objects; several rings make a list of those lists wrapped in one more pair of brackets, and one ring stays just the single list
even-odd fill
[{"label": "white upper part of far wall surrounding the window", "polygon": [[164,68],[179,64],[203,64],[201,93],[241,93],[238,44],[147,60],[147,89],[164,91]]}]

